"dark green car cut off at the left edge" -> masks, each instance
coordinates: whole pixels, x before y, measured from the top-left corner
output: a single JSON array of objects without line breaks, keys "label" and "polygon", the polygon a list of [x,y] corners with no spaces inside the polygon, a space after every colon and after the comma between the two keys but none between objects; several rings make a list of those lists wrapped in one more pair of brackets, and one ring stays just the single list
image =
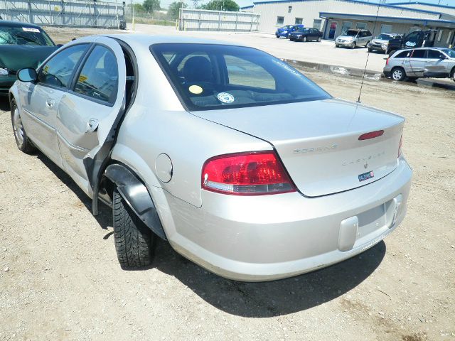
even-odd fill
[{"label": "dark green car cut off at the left edge", "polygon": [[57,49],[40,26],[0,21],[0,96],[8,95],[17,70],[37,67]]}]

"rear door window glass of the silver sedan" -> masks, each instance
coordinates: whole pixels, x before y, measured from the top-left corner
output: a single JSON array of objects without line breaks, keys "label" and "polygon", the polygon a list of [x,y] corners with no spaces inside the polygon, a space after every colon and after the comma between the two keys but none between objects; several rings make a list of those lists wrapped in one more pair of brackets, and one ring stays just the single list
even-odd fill
[{"label": "rear door window glass of the silver sedan", "polygon": [[119,70],[114,53],[97,45],[85,62],[74,91],[103,102],[115,102]]}]

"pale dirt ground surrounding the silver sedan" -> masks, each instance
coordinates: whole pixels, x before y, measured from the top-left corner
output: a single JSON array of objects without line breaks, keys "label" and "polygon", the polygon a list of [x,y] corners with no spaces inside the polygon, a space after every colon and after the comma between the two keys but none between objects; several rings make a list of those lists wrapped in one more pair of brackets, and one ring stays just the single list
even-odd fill
[{"label": "pale dirt ground surrounding the silver sedan", "polygon": [[[358,97],[358,78],[305,73]],[[225,280],[164,242],[150,269],[122,271],[109,210],[92,217],[63,171],[17,150],[2,102],[0,340],[455,340],[455,94],[365,82],[362,102],[407,119],[405,222],[360,256],[268,283]]]}]

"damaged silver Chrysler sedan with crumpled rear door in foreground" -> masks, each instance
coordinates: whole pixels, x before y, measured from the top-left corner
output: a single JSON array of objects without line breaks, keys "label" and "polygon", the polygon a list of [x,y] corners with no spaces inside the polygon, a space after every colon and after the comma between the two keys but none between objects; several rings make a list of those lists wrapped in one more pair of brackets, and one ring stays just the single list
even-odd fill
[{"label": "damaged silver Chrysler sedan with crumpled rear door in foreground", "polygon": [[10,101],[18,148],[63,168],[94,215],[98,199],[112,207],[124,269],[151,264],[158,236],[220,276],[295,276],[405,217],[405,119],[255,48],[89,36],[20,70]]}]

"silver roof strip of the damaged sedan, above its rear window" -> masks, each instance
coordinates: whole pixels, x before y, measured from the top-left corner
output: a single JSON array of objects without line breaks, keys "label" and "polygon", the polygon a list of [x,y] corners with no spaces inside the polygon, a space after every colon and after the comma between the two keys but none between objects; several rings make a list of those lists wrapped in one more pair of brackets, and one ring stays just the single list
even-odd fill
[{"label": "silver roof strip of the damaged sedan, above its rear window", "polygon": [[185,36],[151,36],[148,34],[108,34],[102,35],[109,38],[116,38],[123,40],[125,43],[134,43],[140,45],[154,45],[160,43],[187,43],[187,44],[218,44],[218,45],[233,45],[233,46],[245,46],[239,43],[230,43],[223,40],[205,39],[205,38],[193,38]]}]

